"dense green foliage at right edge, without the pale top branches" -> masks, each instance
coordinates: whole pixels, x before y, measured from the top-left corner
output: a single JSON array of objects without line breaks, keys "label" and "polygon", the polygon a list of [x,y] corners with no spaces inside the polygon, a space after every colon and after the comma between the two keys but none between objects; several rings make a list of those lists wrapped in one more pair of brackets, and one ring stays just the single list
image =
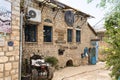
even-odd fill
[{"label": "dense green foliage at right edge, without the pale top branches", "polygon": [[112,76],[118,79],[120,73],[120,13],[118,11],[112,13],[105,20],[107,42],[111,45],[107,56],[107,65],[113,66]]}]

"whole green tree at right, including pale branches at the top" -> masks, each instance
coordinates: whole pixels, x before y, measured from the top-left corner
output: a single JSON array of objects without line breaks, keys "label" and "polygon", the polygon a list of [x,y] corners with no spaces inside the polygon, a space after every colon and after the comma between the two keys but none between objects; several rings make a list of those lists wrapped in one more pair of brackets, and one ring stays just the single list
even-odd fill
[{"label": "whole green tree at right, including pale branches at the top", "polygon": [[[91,2],[93,0],[88,0]],[[107,42],[111,46],[108,51],[107,65],[113,66],[112,76],[117,80],[120,76],[120,0],[101,0],[100,7],[111,5],[112,11],[105,18]],[[110,9],[111,10],[111,9]]]}]

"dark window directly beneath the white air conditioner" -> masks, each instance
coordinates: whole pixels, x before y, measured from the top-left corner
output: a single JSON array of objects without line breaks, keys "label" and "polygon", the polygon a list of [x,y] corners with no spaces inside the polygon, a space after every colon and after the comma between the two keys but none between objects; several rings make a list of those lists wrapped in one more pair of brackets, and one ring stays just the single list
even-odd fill
[{"label": "dark window directly beneath the white air conditioner", "polygon": [[37,25],[29,24],[25,27],[25,41],[36,42]]}]

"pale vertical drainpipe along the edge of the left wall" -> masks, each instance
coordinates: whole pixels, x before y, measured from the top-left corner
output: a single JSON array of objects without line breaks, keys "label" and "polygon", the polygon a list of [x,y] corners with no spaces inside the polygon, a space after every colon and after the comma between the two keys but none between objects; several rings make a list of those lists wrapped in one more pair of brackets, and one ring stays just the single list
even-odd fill
[{"label": "pale vertical drainpipe along the edge of the left wall", "polygon": [[21,80],[22,65],[22,30],[23,30],[23,12],[20,13],[20,54],[19,54],[19,80]]}]

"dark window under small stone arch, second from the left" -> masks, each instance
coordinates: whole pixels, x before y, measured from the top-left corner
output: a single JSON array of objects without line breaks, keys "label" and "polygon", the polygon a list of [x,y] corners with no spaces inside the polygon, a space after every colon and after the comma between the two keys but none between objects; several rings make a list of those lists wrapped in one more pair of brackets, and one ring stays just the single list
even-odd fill
[{"label": "dark window under small stone arch, second from the left", "polygon": [[52,27],[44,26],[44,42],[52,42]]}]

